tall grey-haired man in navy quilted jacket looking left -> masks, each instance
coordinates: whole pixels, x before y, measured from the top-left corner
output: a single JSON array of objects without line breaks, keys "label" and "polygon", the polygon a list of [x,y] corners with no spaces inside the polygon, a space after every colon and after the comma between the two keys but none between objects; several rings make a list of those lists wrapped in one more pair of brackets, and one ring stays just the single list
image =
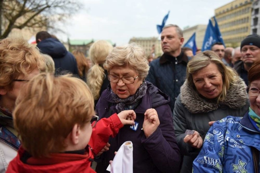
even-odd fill
[{"label": "tall grey-haired man in navy quilted jacket looking left", "polygon": [[184,38],[182,30],[177,25],[164,26],[161,33],[161,46],[164,54],[150,63],[146,80],[157,86],[170,96],[170,107],[180,94],[180,87],[186,78],[188,57],[181,51]]}]

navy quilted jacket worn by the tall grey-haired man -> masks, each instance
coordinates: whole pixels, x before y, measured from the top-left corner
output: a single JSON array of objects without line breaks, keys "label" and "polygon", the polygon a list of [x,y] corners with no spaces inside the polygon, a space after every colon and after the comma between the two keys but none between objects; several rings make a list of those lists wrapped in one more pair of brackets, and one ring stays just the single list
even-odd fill
[{"label": "navy quilted jacket worn by the tall grey-haired man", "polygon": [[169,104],[172,111],[186,78],[188,60],[189,57],[181,52],[177,57],[163,54],[160,58],[150,62],[150,70],[146,80],[170,96]]}]

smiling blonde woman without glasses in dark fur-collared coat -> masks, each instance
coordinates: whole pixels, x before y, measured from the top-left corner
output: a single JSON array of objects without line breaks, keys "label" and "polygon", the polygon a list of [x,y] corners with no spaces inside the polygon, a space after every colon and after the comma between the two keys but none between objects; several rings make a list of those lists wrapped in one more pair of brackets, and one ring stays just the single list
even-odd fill
[{"label": "smiling blonde woman without glasses in dark fur-collared coat", "polygon": [[[192,172],[212,121],[248,110],[244,81],[218,55],[204,51],[187,64],[187,77],[175,101],[173,120],[183,162],[181,172]],[[191,130],[187,131],[186,130]]]}]

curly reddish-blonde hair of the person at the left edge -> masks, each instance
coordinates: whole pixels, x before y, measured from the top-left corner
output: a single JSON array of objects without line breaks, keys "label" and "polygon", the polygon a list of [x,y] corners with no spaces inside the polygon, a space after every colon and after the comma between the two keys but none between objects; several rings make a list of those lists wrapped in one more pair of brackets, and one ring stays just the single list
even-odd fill
[{"label": "curly reddish-blonde hair of the person at the left edge", "polygon": [[13,80],[27,76],[35,69],[46,68],[45,59],[34,45],[23,38],[5,38],[0,41],[0,87],[13,88]]}]

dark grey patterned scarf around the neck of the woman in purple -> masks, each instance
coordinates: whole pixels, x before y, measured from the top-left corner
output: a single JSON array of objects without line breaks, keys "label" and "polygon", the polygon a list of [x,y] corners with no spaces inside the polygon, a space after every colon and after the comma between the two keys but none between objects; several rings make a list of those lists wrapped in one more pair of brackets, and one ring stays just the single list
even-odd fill
[{"label": "dark grey patterned scarf around the neck of the woman in purple", "polygon": [[140,103],[141,98],[145,95],[147,90],[147,83],[143,81],[142,85],[136,90],[135,94],[129,96],[127,98],[119,98],[112,90],[111,95],[113,101],[117,103],[116,109],[117,112],[121,112],[124,110],[135,109],[137,105]]}]

